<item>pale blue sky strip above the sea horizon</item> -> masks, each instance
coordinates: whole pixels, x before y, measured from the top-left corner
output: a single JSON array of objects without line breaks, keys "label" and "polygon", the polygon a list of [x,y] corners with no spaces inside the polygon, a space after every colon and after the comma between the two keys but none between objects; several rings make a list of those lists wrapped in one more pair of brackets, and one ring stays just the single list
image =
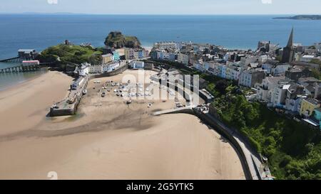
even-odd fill
[{"label": "pale blue sky strip above the sea horizon", "polygon": [[1,0],[0,13],[321,14],[320,0]]}]

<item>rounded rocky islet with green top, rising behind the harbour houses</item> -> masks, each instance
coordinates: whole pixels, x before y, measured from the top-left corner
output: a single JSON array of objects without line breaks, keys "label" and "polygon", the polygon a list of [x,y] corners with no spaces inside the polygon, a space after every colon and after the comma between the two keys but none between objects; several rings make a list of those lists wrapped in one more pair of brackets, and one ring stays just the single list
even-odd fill
[{"label": "rounded rocky islet with green top, rising behind the harbour houses", "polygon": [[113,48],[140,48],[141,42],[135,36],[123,36],[121,32],[114,31],[108,34],[105,45]]}]

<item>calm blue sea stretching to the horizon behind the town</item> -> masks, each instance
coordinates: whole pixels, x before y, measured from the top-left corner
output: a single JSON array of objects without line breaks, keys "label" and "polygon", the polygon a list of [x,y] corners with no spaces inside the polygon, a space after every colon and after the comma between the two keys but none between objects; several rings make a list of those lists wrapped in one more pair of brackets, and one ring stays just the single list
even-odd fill
[{"label": "calm blue sea stretching to the horizon behind the town", "polygon": [[293,26],[295,43],[312,45],[321,41],[321,21],[273,17],[0,14],[0,59],[16,56],[19,48],[43,50],[66,39],[103,46],[110,31],[137,36],[145,46],[156,41],[193,41],[255,49],[260,40],[285,45]]}]

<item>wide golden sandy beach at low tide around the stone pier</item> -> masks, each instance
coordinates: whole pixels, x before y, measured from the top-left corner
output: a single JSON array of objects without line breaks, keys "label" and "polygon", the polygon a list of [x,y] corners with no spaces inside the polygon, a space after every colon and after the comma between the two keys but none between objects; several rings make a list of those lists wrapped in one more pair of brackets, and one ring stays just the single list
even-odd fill
[{"label": "wide golden sandy beach at low tide around the stone pier", "polygon": [[173,108],[173,99],[128,105],[97,92],[94,81],[125,75],[138,71],[91,80],[73,117],[46,117],[71,84],[60,72],[0,92],[0,179],[49,179],[51,171],[59,179],[245,179],[233,146],[197,117],[151,115]]}]

